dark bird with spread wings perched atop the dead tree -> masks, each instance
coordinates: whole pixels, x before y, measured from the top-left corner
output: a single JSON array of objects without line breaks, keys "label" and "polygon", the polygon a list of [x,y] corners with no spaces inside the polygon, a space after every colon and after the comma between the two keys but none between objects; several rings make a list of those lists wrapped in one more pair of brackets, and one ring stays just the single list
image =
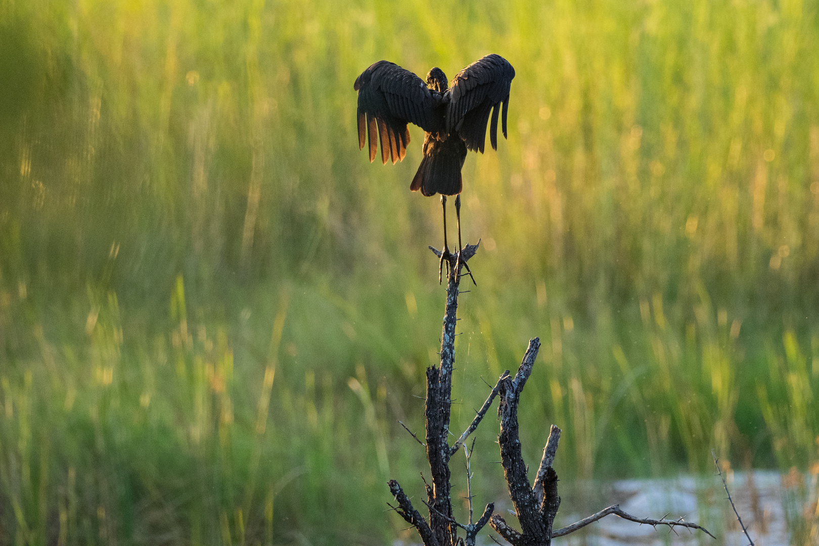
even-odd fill
[{"label": "dark bird with spread wings perched atop the dead tree", "polygon": [[[460,192],[463,188],[461,168],[467,151],[483,153],[486,124],[492,149],[498,149],[498,115],[506,137],[509,111],[509,89],[514,68],[504,57],[492,53],[473,62],[447,83],[446,74],[437,66],[429,70],[424,81],[418,75],[390,61],[378,61],[355,79],[358,92],[359,149],[369,143],[370,163],[375,160],[378,143],[381,160],[404,160],[409,144],[408,124],[424,130],[423,159],[409,189],[424,196],[441,194],[444,216],[444,248],[438,267],[441,282],[444,259],[451,257],[446,243],[446,197],[455,197],[458,222],[458,259],[460,240]],[[489,115],[492,115],[491,122]],[[378,140],[376,140],[378,135]],[[369,141],[369,142],[368,142]],[[456,261],[457,263],[457,261]],[[475,278],[466,265],[467,272]],[[448,265],[449,267],[449,265]],[[456,267],[459,273],[459,267]],[[457,274],[457,273],[456,273]]]}]

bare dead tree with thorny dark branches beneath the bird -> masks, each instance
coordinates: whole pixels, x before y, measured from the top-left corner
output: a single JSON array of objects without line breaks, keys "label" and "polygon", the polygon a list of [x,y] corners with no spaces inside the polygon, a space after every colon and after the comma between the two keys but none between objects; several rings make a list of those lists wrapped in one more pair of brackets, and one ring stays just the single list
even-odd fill
[{"label": "bare dead tree with thorny dark branches beneath the bird", "polygon": [[[478,241],[480,244],[480,241]],[[478,245],[467,245],[461,253],[445,255],[447,264],[446,279],[446,310],[444,312],[443,332],[441,334],[441,365],[427,368],[427,399],[424,408],[426,417],[426,443],[419,440],[409,429],[415,440],[427,449],[432,485],[424,481],[427,500],[422,501],[427,507],[428,517],[423,517],[409,497],[401,489],[397,481],[388,482],[391,494],[396,499],[396,506],[390,504],[401,517],[418,530],[425,546],[473,546],[478,531],[490,526],[513,546],[548,546],[551,539],[557,536],[568,535],[589,525],[609,514],[616,514],[627,520],[645,523],[650,526],[688,527],[699,529],[712,536],[703,527],[683,521],[667,519],[649,519],[634,517],[623,512],[615,504],[596,514],[577,521],[570,526],[553,530],[552,524],[560,507],[558,495],[558,476],[554,472],[552,463],[557,453],[560,441],[560,429],[552,425],[549,439],[543,449],[541,465],[537,470],[534,485],[530,484],[527,476],[527,466],[523,462],[520,439],[518,438],[518,403],[523,386],[532,373],[532,366],[537,358],[537,351],[541,341],[533,338],[529,341],[523,362],[518,372],[512,377],[509,370],[504,372],[486,398],[486,402],[478,410],[472,423],[466,431],[458,437],[455,444],[449,444],[450,408],[452,405],[452,370],[455,363],[455,314],[458,310],[458,296],[461,268],[466,267],[469,259],[475,255]],[[429,247],[439,258],[441,252]],[[504,468],[506,485],[509,489],[509,498],[512,499],[515,515],[518,517],[521,530],[510,526],[504,518],[493,514],[495,505],[489,503],[477,521],[473,521],[471,469],[469,459],[472,450],[466,448],[466,440],[475,431],[486,411],[490,408],[495,397],[500,397],[498,416],[500,417],[500,459]],[[401,423],[403,426],[403,423]],[[405,427],[406,428],[406,427]],[[473,441],[474,444],[474,441]],[[469,505],[468,523],[460,523],[452,513],[452,499],[450,497],[450,458],[463,447],[467,457],[467,496]],[[459,537],[458,530],[464,530],[465,537]]]}]

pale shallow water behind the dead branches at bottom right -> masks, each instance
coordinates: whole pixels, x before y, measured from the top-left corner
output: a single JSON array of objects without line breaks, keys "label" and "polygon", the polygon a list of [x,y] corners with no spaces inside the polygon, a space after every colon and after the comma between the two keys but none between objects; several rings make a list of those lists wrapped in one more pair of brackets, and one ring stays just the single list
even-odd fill
[{"label": "pale shallow water behind the dead branches at bottom right", "polygon": [[[787,546],[790,544],[790,532],[786,516],[812,517],[812,514],[817,513],[816,475],[729,471],[726,473],[726,481],[736,510],[756,546]],[[665,526],[654,529],[609,515],[572,535],[554,539],[555,546],[748,544],[719,476],[587,481],[566,483],[563,487],[563,503],[555,527],[571,525],[583,517],[619,503],[622,510],[636,517],[683,517],[686,521],[704,526],[717,536],[717,540],[698,530],[678,527],[675,532]],[[505,502],[495,503],[495,512],[501,513],[509,524],[517,527],[511,508],[508,498]],[[500,540],[494,530],[488,531]],[[500,542],[505,544],[502,540]],[[478,537],[478,544],[495,543],[484,531]],[[409,543],[396,541],[395,546],[409,546]]]}]

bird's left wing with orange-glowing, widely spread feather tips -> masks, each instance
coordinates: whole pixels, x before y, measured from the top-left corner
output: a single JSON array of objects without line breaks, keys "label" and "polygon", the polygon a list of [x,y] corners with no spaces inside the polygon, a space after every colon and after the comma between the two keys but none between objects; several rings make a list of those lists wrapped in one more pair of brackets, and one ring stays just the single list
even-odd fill
[{"label": "bird's left wing with orange-glowing, widely spread feather tips", "polygon": [[376,131],[381,141],[382,162],[387,163],[391,156],[395,164],[407,153],[408,123],[419,125],[424,131],[443,129],[441,116],[437,115],[441,95],[399,65],[378,61],[355,79],[353,88],[359,92],[359,149],[364,147],[364,133],[369,133],[370,161],[378,150]]}]

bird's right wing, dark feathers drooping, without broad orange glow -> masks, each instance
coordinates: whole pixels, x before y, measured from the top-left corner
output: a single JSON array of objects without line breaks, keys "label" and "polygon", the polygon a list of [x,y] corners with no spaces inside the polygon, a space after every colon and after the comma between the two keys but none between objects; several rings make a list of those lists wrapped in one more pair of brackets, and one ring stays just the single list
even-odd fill
[{"label": "bird's right wing, dark feathers drooping, without broad orange glow", "polygon": [[498,112],[504,103],[503,130],[506,138],[506,114],[509,110],[509,87],[514,68],[500,55],[478,59],[452,79],[450,102],[446,106],[446,132],[453,129],[472,151],[483,153],[486,142],[486,122],[492,111],[489,138],[492,148],[498,149]]}]

